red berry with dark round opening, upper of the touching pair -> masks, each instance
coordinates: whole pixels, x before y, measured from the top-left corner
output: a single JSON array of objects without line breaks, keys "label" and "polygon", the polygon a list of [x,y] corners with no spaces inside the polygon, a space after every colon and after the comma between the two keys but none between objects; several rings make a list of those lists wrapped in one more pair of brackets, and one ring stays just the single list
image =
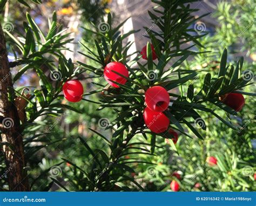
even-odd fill
[{"label": "red berry with dark round opening, upper of the touching pair", "polygon": [[170,103],[169,93],[161,86],[150,87],[145,93],[145,103],[152,111],[163,112]]}]

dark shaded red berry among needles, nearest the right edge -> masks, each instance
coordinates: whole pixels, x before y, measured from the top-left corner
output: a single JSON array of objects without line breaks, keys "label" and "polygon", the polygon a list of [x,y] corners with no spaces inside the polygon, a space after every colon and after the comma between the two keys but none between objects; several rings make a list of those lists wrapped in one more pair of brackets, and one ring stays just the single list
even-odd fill
[{"label": "dark shaded red berry among needles, nearest the right edge", "polygon": [[221,101],[237,112],[240,112],[242,107],[245,105],[245,98],[242,94],[238,93],[229,93],[225,94],[224,98],[221,98]]}]

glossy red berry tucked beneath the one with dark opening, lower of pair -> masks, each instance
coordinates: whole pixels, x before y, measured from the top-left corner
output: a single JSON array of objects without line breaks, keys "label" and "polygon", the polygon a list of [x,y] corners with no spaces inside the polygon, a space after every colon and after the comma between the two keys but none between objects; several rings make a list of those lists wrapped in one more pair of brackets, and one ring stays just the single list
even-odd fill
[{"label": "glossy red berry tucked beneath the one with dark opening, lower of pair", "polygon": [[152,132],[161,133],[166,131],[170,120],[161,112],[154,112],[149,107],[144,109],[144,122]]}]

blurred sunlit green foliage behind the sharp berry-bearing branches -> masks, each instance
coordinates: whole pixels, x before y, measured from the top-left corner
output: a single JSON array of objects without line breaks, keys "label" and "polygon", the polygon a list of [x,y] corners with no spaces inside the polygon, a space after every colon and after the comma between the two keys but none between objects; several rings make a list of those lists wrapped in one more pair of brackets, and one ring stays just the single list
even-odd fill
[{"label": "blurred sunlit green foliage behind the sharp berry-bearing branches", "polygon": [[[78,1],[83,11],[83,18],[97,24],[105,14],[107,4],[102,3],[102,1],[95,1],[93,4],[90,2]],[[216,66],[219,64],[215,61],[219,61],[217,57],[220,57],[224,47],[230,48],[233,54],[238,51],[246,51],[248,55],[255,53],[255,22],[252,25],[251,22],[256,19],[256,6],[251,6],[253,4],[255,3],[250,0],[233,1],[232,3],[220,2],[218,4],[213,16],[217,18],[220,27],[216,29],[213,36],[202,37],[199,40],[207,51],[212,52],[197,54],[193,60],[185,61],[183,65],[186,69],[195,67],[201,70],[199,78],[189,81],[189,84],[192,83],[195,88],[201,88],[205,73],[211,72],[212,76],[218,74]],[[96,10],[97,12],[95,12]],[[237,19],[239,19],[239,23]],[[248,25],[251,26],[248,27]],[[90,29],[89,23],[85,22],[83,26]],[[84,39],[92,39],[93,33],[85,32],[84,37]],[[242,39],[242,44],[237,45],[240,39]],[[96,51],[90,40],[82,43],[89,49]],[[199,52],[203,51],[201,47],[198,50]],[[235,60],[237,60],[237,57],[234,55],[231,57],[230,63]],[[86,64],[101,67],[90,59],[86,59]],[[244,67],[245,70],[251,70],[255,73],[255,61],[246,63]],[[103,78],[101,80],[104,81]],[[97,81],[96,84],[102,84],[101,80]],[[95,90],[95,83],[92,83],[91,80],[85,79],[84,82],[86,92]],[[255,88],[253,90],[255,92]],[[186,91],[183,92],[186,93]],[[251,89],[250,92],[252,92]],[[102,116],[107,116],[111,122],[114,119],[114,112],[112,109],[97,111],[97,104],[92,104],[90,101],[97,101],[98,98],[98,94],[95,94],[90,99],[85,97],[85,101],[72,104],[72,107],[78,109],[82,114],[65,111],[64,118],[53,127],[51,133],[40,141],[38,140],[40,143],[58,142],[52,145],[49,144],[47,147],[38,150],[37,153],[30,155],[30,176],[33,179],[32,190],[84,191],[92,188],[91,183],[86,181],[83,175],[89,173],[89,170],[96,170],[97,168],[92,163],[92,154],[83,146],[78,135],[86,138],[86,143],[90,148],[99,148],[104,150],[106,154],[110,153],[102,138],[89,130],[89,128],[92,128],[106,136],[107,139],[112,136],[110,130],[105,131],[99,127],[98,122]],[[194,138],[193,133],[189,134],[192,138],[179,134],[176,145],[177,151],[175,151],[164,138],[158,138],[155,155],[134,154],[124,156],[124,159],[127,160],[139,159],[153,164],[134,163],[132,167],[134,170],[126,168],[126,170],[123,170],[124,175],[134,177],[145,191],[170,191],[169,185],[172,180],[179,182],[181,191],[255,190],[253,174],[256,171],[256,162],[255,148],[252,146],[256,131],[254,105],[254,97],[247,96],[246,105],[241,112],[242,118],[230,116],[230,120],[238,126],[245,125],[245,128],[241,129],[240,132],[231,130],[217,118],[213,118],[207,113],[200,113],[208,126],[206,131],[200,130],[204,140]],[[211,107],[220,116],[226,115],[223,110],[216,106],[210,104],[207,106]],[[49,125],[56,121],[55,118],[50,116],[47,120]],[[47,128],[47,126],[37,126],[33,129],[40,133]],[[26,139],[32,136],[32,134],[31,136],[28,135]],[[145,140],[143,135],[137,135],[132,142],[146,141],[149,145],[140,146],[140,148],[150,151],[151,138],[152,136]],[[31,143],[29,144],[31,145]],[[209,166],[206,163],[208,156],[217,157],[218,165]],[[53,170],[55,166],[56,169]],[[2,168],[4,168],[3,165]],[[172,175],[174,172],[180,174],[180,180]],[[55,180],[53,181],[52,178]],[[1,184],[2,188],[7,188],[3,180],[1,180]],[[126,186],[132,191],[140,190],[132,181],[127,181]],[[110,191],[120,191],[123,190],[122,188],[125,187],[123,185],[120,185],[120,187],[117,185],[109,186]]]}]

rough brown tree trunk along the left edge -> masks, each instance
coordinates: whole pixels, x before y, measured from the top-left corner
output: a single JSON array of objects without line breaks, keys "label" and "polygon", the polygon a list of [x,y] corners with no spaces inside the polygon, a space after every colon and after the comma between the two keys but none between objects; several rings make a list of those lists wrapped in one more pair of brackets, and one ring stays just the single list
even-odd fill
[{"label": "rough brown tree trunk along the left edge", "polygon": [[[2,25],[0,24],[0,116],[3,152],[10,191],[29,191],[29,181],[24,167],[25,156],[22,130],[19,123],[17,108],[14,105],[14,85],[6,52]],[[8,97],[9,91],[9,97]]]}]

